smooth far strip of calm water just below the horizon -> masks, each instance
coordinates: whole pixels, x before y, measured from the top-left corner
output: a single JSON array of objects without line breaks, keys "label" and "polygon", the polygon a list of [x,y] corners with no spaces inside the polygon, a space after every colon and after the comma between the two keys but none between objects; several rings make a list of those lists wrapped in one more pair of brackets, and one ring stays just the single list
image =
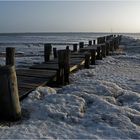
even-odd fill
[{"label": "smooth far strip of calm water just below the horizon", "polygon": [[[110,33],[11,33],[0,34],[0,43],[77,43],[87,42],[97,37],[109,35]],[[140,34],[123,34],[136,39],[140,39]]]}]

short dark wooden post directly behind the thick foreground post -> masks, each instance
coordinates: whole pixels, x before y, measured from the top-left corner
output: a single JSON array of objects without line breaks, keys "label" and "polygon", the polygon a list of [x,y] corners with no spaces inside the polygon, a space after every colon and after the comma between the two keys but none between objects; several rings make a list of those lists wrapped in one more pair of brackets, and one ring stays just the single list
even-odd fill
[{"label": "short dark wooden post directly behind the thick foreground post", "polygon": [[6,65],[15,65],[15,48],[6,48]]}]

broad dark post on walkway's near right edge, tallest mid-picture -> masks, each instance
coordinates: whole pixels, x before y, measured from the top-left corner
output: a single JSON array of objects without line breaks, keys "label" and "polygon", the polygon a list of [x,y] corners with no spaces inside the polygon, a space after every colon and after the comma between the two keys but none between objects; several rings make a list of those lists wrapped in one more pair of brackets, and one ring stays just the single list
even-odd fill
[{"label": "broad dark post on walkway's near right edge, tallest mid-picture", "polygon": [[58,77],[57,81],[60,85],[69,83],[69,51],[59,50],[58,51]]}]

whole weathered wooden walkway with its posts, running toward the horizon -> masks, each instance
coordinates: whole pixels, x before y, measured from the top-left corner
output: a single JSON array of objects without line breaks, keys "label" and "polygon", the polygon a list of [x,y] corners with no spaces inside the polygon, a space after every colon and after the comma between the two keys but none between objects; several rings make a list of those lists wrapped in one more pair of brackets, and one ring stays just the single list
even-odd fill
[{"label": "whole weathered wooden walkway with its posts, running toward the horizon", "polygon": [[[88,45],[84,42],[73,44],[73,50],[69,46],[65,50],[53,48],[54,59],[50,60],[52,52],[51,44],[44,44],[44,62],[41,64],[32,65],[29,68],[15,69],[15,48],[6,48],[6,67],[12,69],[12,74],[8,82],[4,78],[0,78],[0,106],[7,102],[13,105],[13,119],[20,117],[21,109],[19,99],[24,99],[32,90],[38,86],[50,85],[62,86],[69,84],[69,74],[81,67],[89,68],[90,65],[95,65],[96,60],[102,60],[119,48],[121,36],[109,35],[89,40]],[[11,66],[11,67],[10,67]],[[0,68],[0,74],[9,75],[9,70]],[[9,76],[8,76],[9,77]],[[11,84],[6,84],[11,83]],[[5,93],[6,92],[6,93]],[[10,92],[10,94],[9,94]],[[9,97],[11,96],[11,97]],[[0,111],[2,108],[0,108]],[[10,112],[10,106],[5,106],[6,112]],[[2,113],[2,112],[1,112]],[[7,115],[7,114],[6,114]]]}]

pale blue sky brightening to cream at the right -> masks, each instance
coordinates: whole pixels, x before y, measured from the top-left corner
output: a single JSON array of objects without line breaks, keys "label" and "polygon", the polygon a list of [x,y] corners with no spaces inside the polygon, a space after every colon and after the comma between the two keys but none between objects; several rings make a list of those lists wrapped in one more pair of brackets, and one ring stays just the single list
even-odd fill
[{"label": "pale blue sky brightening to cream at the right", "polygon": [[0,1],[13,32],[140,32],[140,1]]}]

